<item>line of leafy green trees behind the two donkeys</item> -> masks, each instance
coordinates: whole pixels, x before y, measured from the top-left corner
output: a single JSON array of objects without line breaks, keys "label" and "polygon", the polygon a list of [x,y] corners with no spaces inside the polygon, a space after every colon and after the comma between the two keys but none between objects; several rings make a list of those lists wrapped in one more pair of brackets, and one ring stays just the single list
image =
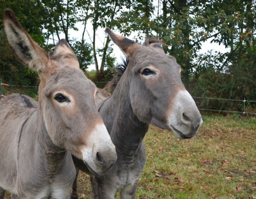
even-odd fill
[{"label": "line of leafy green trees behind the two donkeys", "polygon": [[[64,35],[83,70],[95,64],[95,81],[110,80],[116,64],[109,38],[102,39],[102,47],[96,46],[97,30],[108,26],[124,36],[137,33],[137,41],[145,36],[161,38],[168,45],[165,52],[182,67],[183,82],[193,96],[256,100],[254,0],[0,0],[0,12],[5,8],[14,10],[45,50],[50,51]],[[77,24],[81,35],[73,38],[70,32],[77,30]],[[229,50],[200,54],[206,40]],[[37,84],[36,73],[20,67],[11,53],[2,18],[0,78],[12,84]],[[241,109],[232,103],[200,101],[198,105]]]}]

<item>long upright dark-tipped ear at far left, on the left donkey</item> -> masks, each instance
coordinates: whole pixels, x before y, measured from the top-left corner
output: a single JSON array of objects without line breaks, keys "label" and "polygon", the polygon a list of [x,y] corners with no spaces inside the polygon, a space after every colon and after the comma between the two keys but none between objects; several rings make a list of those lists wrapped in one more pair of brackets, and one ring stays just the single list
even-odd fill
[{"label": "long upright dark-tipped ear at far left, on the left donkey", "polygon": [[37,72],[45,71],[49,61],[48,55],[20,26],[10,9],[3,13],[3,23],[7,41],[17,58]]}]

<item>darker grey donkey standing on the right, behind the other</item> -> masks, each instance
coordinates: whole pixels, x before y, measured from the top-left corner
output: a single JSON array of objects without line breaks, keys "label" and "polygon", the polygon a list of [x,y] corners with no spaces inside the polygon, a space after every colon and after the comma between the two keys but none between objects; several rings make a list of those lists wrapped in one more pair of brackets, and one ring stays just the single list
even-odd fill
[{"label": "darker grey donkey standing on the right, behind the other", "polygon": [[[179,64],[164,53],[159,41],[151,39],[139,45],[109,28],[105,31],[127,55],[129,63],[122,69],[113,95],[97,102],[116,146],[117,161],[107,174],[91,173],[93,197],[113,199],[120,191],[122,199],[132,199],[146,160],[143,138],[149,124],[186,139],[196,135],[203,121],[181,82]],[[89,173],[82,161],[72,157],[76,168]],[[76,182],[72,191],[71,197],[77,198]]]}]

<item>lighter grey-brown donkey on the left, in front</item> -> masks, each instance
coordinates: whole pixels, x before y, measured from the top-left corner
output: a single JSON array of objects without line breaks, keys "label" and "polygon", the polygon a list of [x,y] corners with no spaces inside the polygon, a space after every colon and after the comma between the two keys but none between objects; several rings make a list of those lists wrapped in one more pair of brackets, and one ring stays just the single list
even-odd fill
[{"label": "lighter grey-brown donkey on the left, in front", "polygon": [[117,159],[96,108],[96,86],[65,40],[46,54],[11,10],[3,21],[12,51],[41,82],[38,103],[20,94],[0,101],[0,198],[4,190],[20,199],[69,198],[76,176],[71,153],[94,175],[104,174]]}]

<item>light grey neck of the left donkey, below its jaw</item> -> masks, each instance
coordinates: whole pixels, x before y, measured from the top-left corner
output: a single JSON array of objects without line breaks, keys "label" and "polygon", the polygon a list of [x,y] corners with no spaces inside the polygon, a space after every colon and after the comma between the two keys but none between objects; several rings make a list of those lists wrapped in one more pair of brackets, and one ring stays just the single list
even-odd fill
[{"label": "light grey neck of the left donkey, below its jaw", "polygon": [[[19,156],[25,153],[32,154],[33,158],[32,161],[30,161],[31,164],[35,167],[42,168],[41,172],[46,172],[46,175],[53,176],[58,172],[65,160],[67,150],[53,144],[45,128],[43,114],[39,107],[37,107],[36,111],[27,119],[23,126],[18,153]],[[37,128],[35,128],[35,124]],[[32,146],[26,148],[22,147],[29,142]]]}]

